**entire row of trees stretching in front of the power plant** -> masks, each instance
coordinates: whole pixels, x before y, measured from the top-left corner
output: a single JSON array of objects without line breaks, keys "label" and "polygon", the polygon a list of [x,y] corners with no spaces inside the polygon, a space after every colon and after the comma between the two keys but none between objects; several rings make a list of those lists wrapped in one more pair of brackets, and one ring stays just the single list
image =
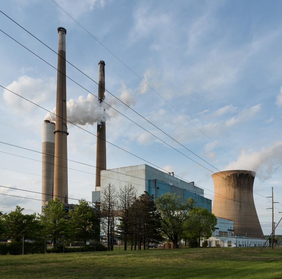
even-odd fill
[{"label": "entire row of trees stretching in front of the power plant", "polygon": [[173,242],[174,248],[180,240],[199,245],[212,235],[216,217],[196,207],[193,198],[170,192],[156,198],[144,192],[138,197],[136,192],[131,184],[117,190],[109,183],[102,188],[96,208],[81,199],[74,210],[65,210],[57,198],[49,200],[42,214],[23,214],[24,208],[16,206],[15,211],[0,213],[0,238],[14,243],[47,239],[58,251],[62,245],[79,242],[86,247],[86,241],[94,240],[97,250],[103,250],[102,235],[107,239],[106,250],[112,251],[117,239],[123,241],[124,250],[141,250],[161,241]]}]

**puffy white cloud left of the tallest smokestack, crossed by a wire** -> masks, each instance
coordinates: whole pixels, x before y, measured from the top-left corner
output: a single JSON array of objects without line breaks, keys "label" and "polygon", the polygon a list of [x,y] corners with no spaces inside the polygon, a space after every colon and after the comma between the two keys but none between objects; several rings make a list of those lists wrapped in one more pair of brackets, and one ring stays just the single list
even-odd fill
[{"label": "puffy white cloud left of the tallest smokestack, crossed by a wire", "polygon": [[[20,76],[18,81],[13,81],[6,88],[36,104],[43,103],[53,97],[56,93],[56,83],[54,78],[35,79],[29,76]],[[36,109],[34,104],[29,103],[5,89],[3,90],[3,98],[8,103],[9,107],[18,114],[23,114]]]}]

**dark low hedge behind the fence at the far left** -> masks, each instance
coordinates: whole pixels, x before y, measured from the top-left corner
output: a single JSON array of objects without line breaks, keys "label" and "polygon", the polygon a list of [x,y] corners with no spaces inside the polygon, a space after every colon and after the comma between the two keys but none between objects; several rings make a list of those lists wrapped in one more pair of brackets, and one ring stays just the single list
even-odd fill
[{"label": "dark low hedge behind the fence at the far left", "polygon": [[[43,254],[45,251],[44,241],[24,241],[24,254]],[[23,254],[23,242],[0,242],[0,255],[21,255]]]}]

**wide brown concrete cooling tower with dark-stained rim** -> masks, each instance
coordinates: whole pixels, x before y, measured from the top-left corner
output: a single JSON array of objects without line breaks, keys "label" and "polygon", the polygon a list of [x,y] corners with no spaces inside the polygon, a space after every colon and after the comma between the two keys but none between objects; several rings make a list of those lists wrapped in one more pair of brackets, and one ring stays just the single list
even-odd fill
[{"label": "wide brown concrete cooling tower with dark-stained rim", "polygon": [[253,171],[222,171],[212,175],[212,213],[234,222],[234,234],[264,238],[253,201]]}]

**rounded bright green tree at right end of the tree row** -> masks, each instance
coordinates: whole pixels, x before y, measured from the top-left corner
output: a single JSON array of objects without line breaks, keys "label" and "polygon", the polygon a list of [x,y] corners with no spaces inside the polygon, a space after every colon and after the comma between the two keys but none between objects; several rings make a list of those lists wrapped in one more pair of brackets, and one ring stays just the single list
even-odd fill
[{"label": "rounded bright green tree at right end of the tree row", "polygon": [[217,225],[217,218],[208,209],[201,207],[191,209],[188,215],[190,219],[186,226],[190,230],[187,230],[187,236],[189,238],[196,238],[198,240],[198,247],[200,247],[201,240],[209,239],[212,236],[214,227]]}]

